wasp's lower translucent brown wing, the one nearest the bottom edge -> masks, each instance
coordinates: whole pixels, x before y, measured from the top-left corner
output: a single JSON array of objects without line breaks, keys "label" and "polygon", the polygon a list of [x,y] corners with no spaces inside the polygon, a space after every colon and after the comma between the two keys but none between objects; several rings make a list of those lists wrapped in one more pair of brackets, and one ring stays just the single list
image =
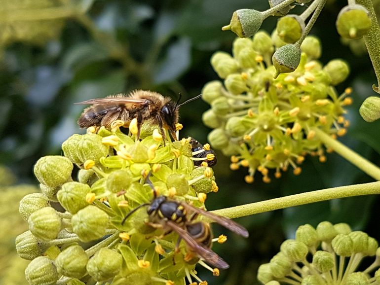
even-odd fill
[{"label": "wasp's lower translucent brown wing, the one nearest the bottom edge", "polygon": [[166,222],[166,226],[177,232],[179,236],[186,242],[189,248],[192,251],[196,252],[199,257],[203,258],[207,263],[220,269],[227,269],[229,267],[228,263],[224,261],[222,257],[220,257],[211,249],[198,244],[186,230],[179,227],[175,222],[168,220]]}]

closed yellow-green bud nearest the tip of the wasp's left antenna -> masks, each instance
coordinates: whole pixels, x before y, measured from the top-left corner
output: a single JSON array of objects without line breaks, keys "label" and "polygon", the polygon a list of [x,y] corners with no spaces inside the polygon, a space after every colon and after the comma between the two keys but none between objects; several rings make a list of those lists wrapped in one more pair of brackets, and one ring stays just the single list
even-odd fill
[{"label": "closed yellow-green bud nearest the tip of the wasp's left antenna", "polygon": [[79,210],[71,219],[73,231],[82,242],[97,240],[106,234],[109,216],[99,208],[89,205]]}]

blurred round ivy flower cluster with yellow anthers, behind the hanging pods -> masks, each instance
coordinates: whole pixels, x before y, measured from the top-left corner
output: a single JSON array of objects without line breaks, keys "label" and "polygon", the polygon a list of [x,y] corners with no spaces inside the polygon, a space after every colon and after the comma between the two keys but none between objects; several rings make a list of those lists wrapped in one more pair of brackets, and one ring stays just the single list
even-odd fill
[{"label": "blurred round ivy flower cluster with yellow anthers, behind the hanging pods", "polygon": [[232,55],[216,52],[211,58],[224,81],[208,82],[202,90],[203,100],[211,105],[202,117],[213,129],[208,140],[231,156],[232,170],[248,168],[248,183],[257,171],[270,182],[269,169],[275,170],[276,178],[289,167],[298,175],[306,154],[326,161],[314,129],[337,138],[349,126],[344,107],[352,103],[351,88],[341,95],[335,89],[348,76],[347,64],[337,59],[323,66],[317,60],[319,40],[307,36],[295,71],[277,74],[271,58],[284,44],[276,33],[236,38]]}]

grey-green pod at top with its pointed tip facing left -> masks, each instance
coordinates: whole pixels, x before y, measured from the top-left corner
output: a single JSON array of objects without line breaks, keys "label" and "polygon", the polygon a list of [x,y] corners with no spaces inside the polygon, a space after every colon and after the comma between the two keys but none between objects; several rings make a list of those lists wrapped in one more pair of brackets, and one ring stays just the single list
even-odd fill
[{"label": "grey-green pod at top with its pointed tip facing left", "polygon": [[260,29],[262,23],[262,12],[254,9],[240,9],[233,12],[229,25],[224,26],[222,30],[231,30],[238,37],[250,37]]}]

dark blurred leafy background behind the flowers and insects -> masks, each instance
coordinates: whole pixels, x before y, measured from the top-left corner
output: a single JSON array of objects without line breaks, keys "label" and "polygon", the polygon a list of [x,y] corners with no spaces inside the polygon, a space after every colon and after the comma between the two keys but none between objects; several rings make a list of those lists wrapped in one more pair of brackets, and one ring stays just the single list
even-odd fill
[{"label": "dark blurred leafy background behind the flowers and insects", "polygon": [[[257,2],[257,3],[254,3]],[[364,99],[374,96],[376,82],[361,41],[343,43],[335,29],[344,1],[328,1],[311,34],[322,41],[321,61],[342,58],[351,73],[338,93],[353,88],[348,107],[351,122],[340,139],[379,165],[379,123],[366,123],[358,114]],[[200,94],[208,81],[219,79],[210,65],[217,50],[230,53],[235,35],[222,32],[232,12],[241,8],[265,10],[266,1],[248,0],[0,0],[0,284],[25,284],[28,263],[14,251],[14,238],[27,229],[18,215],[18,202],[38,191],[33,165],[44,155],[62,154],[61,143],[74,133],[83,106],[91,98],[150,89],[183,100]],[[303,11],[298,5],[292,13]],[[264,22],[271,33],[276,18]],[[207,142],[209,129],[201,115],[202,100],[181,109],[183,137]],[[337,154],[327,162],[306,157],[300,176],[291,172],[265,184],[244,182],[245,170],[230,171],[229,158],[218,155],[214,168],[220,188],[210,194],[208,210],[216,210],[290,194],[373,181]],[[329,220],[347,222],[380,240],[379,198],[353,197],[316,203],[238,219],[250,231],[244,240],[228,234],[228,243],[215,245],[231,265],[221,276],[199,276],[208,284],[258,284],[257,268],[278,252],[299,225],[316,226]]]}]

